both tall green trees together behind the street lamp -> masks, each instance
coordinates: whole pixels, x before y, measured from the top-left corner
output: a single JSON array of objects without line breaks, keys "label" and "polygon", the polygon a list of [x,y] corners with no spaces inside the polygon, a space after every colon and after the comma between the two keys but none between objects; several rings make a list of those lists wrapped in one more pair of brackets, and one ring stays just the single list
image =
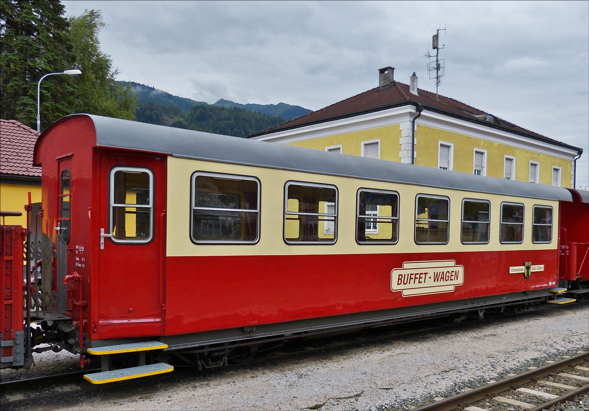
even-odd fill
[{"label": "both tall green trees together behind the street lamp", "polygon": [[78,68],[76,77],[41,82],[41,125],[74,112],[133,119],[137,100],[115,83],[117,71],[100,51],[100,12],[69,21],[57,0],[0,1],[0,116],[37,125],[37,83],[45,74]]}]

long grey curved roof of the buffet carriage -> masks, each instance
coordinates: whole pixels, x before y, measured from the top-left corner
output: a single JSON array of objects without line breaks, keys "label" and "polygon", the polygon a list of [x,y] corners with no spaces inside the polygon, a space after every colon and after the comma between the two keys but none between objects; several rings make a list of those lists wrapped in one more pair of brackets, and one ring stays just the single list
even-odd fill
[{"label": "long grey curved roof of the buffet carriage", "polygon": [[477,193],[507,194],[547,200],[573,200],[573,196],[567,189],[550,185],[452,173],[421,165],[374,160],[356,155],[336,155],[327,151],[275,142],[255,141],[97,115],[88,115],[88,117],[94,121],[96,142],[101,147],[130,148],[219,163],[280,168]]}]

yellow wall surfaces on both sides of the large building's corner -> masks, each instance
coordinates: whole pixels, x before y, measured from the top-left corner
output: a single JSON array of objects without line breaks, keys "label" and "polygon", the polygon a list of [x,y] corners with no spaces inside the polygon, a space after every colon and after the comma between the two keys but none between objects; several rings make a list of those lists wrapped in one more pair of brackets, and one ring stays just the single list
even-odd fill
[{"label": "yellow wall surfaces on both sides of the large building's corner", "polygon": [[[380,160],[401,161],[399,158],[400,137],[399,125],[393,124],[289,144],[316,150],[325,150],[326,147],[341,144],[343,154],[361,155],[362,141],[380,139]],[[561,187],[572,187],[570,160],[419,124],[415,137],[417,139],[415,164],[438,168],[438,142],[444,141],[454,144],[454,171],[472,174],[474,149],[479,148],[487,151],[488,177],[504,177],[504,159],[505,155],[509,155],[515,157],[515,180],[530,181],[530,161],[536,161],[540,163],[541,184],[552,184],[552,166],[556,166],[561,168]]]}]

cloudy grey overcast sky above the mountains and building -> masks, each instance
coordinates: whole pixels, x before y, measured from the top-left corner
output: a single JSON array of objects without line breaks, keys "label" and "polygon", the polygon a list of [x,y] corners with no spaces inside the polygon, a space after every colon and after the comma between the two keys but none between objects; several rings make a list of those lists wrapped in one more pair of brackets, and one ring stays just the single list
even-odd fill
[{"label": "cloudy grey overcast sky above the mountains and building", "polygon": [[[439,92],[581,147],[589,184],[589,2],[64,1],[102,12],[101,48],[136,81],[197,101],[318,110],[395,79],[428,79],[440,26]],[[563,176],[565,177],[565,176]]]}]

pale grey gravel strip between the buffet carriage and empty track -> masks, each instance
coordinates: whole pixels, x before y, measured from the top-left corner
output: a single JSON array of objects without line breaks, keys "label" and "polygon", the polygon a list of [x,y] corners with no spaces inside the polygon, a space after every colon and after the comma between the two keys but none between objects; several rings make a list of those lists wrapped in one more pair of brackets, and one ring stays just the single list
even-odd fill
[{"label": "pale grey gravel strip between the buffet carriage and empty track", "polygon": [[[587,304],[479,321],[449,332],[193,372],[135,390],[52,403],[71,410],[407,409],[547,360],[587,351]],[[38,370],[54,367],[37,356]],[[61,354],[61,353],[60,353]],[[77,357],[65,358],[66,367]],[[63,365],[61,365],[63,366]],[[35,367],[36,368],[36,367]],[[39,372],[35,370],[35,372]],[[21,372],[19,377],[22,377]],[[6,374],[3,372],[2,379]]]}]

